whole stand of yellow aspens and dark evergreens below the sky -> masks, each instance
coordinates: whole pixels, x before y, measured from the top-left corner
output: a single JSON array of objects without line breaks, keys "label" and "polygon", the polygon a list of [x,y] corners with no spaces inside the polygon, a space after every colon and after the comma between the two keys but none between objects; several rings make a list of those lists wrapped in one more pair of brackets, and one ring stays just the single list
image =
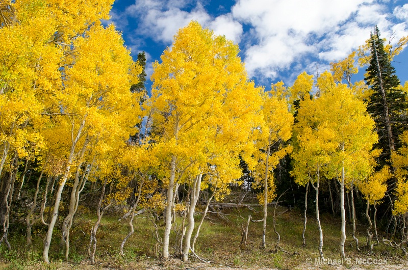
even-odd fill
[{"label": "whole stand of yellow aspens and dark evergreens below the sky", "polygon": [[[0,245],[13,248],[10,217],[20,205],[24,219],[16,222],[25,223],[27,245],[33,225],[41,224],[44,262],[56,237],[68,259],[72,222],[80,204],[86,204],[84,196],[92,194],[97,199],[87,207],[97,216],[89,232],[93,264],[103,215],[121,202],[129,206],[125,215],[130,217],[122,255],[134,233],[135,214],[147,211],[164,221],[161,236],[152,223],[162,258],[168,260],[170,231],[181,211],[178,253],[187,261],[190,252],[196,255],[210,202],[242,186],[257,193],[263,206],[265,248],[267,206],[289,184],[294,205],[295,192],[304,198],[303,245],[308,193],[315,191],[321,259],[319,199],[340,214],[341,257],[347,214],[360,251],[354,196],[365,201],[368,249],[380,244],[376,213],[381,203],[378,211],[390,218],[383,229],[399,239],[381,241],[405,252],[408,85],[400,85],[391,60],[407,38],[393,48],[375,28],[366,45],[331,63],[330,71],[303,72],[293,86],[279,82],[265,91],[248,79],[238,45],[192,21],[154,64],[148,96],[144,53],[134,62],[120,33],[100,22],[112,4],[0,4]],[[365,82],[352,83],[355,61],[366,65]],[[203,190],[208,196],[200,201]],[[200,202],[205,211],[196,226]],[[55,226],[61,235],[54,234]]]}]

